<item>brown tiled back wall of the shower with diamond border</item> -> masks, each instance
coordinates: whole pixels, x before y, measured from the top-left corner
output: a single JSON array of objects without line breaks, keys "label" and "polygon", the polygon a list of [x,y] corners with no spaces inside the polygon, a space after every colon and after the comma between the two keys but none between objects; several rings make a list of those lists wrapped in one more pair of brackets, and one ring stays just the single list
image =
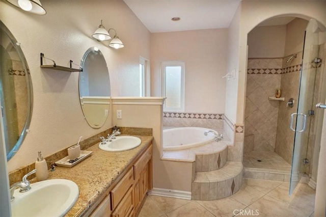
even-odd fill
[{"label": "brown tiled back wall of the shower with diamond border", "polygon": [[282,72],[282,58],[248,59],[244,153],[275,149],[280,102],[268,97],[281,87]]}]

